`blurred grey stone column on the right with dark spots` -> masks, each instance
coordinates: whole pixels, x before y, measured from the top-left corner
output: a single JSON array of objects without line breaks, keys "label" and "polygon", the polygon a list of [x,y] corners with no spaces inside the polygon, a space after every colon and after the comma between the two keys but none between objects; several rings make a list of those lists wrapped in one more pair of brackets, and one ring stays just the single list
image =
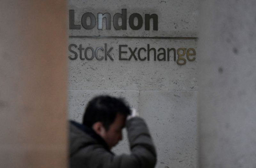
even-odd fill
[{"label": "blurred grey stone column on the right with dark spots", "polygon": [[256,1],[200,4],[200,168],[255,168]]}]

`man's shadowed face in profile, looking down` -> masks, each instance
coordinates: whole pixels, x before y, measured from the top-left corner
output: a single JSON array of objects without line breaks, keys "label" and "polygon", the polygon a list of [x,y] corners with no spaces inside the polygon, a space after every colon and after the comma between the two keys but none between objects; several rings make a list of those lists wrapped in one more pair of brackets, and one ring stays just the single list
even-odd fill
[{"label": "man's shadowed face in profile, looking down", "polygon": [[118,141],[122,140],[122,129],[125,126],[126,117],[117,113],[114,122],[109,126],[108,131],[102,135],[102,138],[108,144],[109,149],[115,146]]}]

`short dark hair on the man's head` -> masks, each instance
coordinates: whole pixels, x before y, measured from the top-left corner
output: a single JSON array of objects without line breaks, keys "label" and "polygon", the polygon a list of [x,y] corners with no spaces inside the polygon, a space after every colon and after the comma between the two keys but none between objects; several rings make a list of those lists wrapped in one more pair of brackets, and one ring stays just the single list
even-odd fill
[{"label": "short dark hair on the man's head", "polygon": [[91,128],[95,122],[102,122],[106,130],[114,122],[116,114],[129,115],[131,110],[122,98],[101,95],[93,98],[85,108],[83,124]]}]

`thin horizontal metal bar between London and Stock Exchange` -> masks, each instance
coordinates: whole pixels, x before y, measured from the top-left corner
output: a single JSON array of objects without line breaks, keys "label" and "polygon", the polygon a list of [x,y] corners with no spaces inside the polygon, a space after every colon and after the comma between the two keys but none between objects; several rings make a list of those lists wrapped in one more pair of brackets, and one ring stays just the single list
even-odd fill
[{"label": "thin horizontal metal bar between London and Stock Exchange", "polygon": [[98,38],[98,39],[186,39],[196,40],[197,37],[140,37],[140,36],[69,36],[69,38]]}]

